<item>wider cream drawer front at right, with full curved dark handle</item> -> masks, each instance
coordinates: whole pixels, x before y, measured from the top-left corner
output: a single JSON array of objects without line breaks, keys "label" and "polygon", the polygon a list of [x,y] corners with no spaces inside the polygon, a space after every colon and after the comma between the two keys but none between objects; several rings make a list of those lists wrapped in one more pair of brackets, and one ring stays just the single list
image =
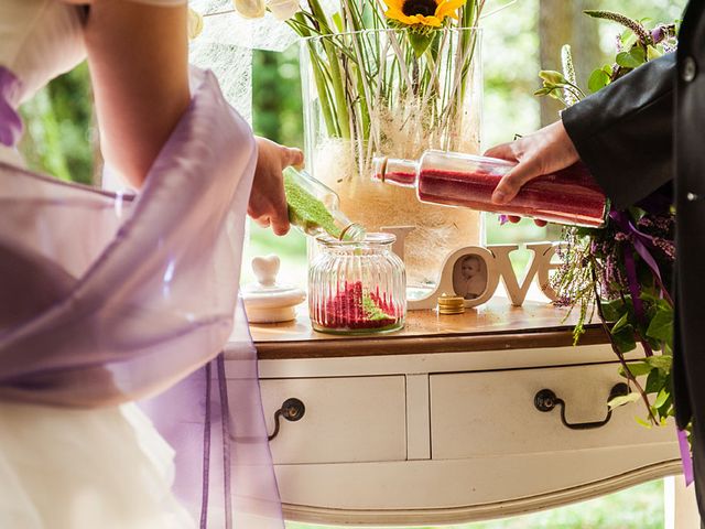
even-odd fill
[{"label": "wider cream drawer front at right, with full curved dark handle", "polygon": [[570,423],[600,421],[610,389],[623,381],[616,364],[432,375],[432,457],[673,443],[674,427],[647,429],[634,421],[646,414],[641,401],[616,409],[607,424],[590,430],[563,425],[558,406],[549,412],[534,407],[536,392],[547,388],[565,401]]}]

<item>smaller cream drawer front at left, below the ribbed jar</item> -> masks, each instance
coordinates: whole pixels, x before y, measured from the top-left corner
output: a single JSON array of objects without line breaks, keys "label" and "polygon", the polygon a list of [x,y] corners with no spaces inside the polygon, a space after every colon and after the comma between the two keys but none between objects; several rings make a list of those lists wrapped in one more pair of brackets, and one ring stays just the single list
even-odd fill
[{"label": "smaller cream drawer front at left, below the ribbed jar", "polygon": [[267,431],[289,398],[306,407],[296,422],[280,419],[270,442],[275,464],[406,458],[403,376],[261,380]]}]

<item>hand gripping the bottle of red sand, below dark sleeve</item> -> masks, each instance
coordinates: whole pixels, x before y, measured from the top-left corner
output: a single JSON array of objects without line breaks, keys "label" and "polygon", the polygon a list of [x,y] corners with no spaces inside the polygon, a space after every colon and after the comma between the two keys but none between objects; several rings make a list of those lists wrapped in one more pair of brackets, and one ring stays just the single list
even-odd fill
[{"label": "hand gripping the bottle of red sand, below dark sleeve", "polygon": [[532,134],[494,147],[485,155],[519,162],[497,185],[492,194],[495,204],[511,202],[521,186],[530,180],[567,168],[579,160],[575,145],[560,120]]}]

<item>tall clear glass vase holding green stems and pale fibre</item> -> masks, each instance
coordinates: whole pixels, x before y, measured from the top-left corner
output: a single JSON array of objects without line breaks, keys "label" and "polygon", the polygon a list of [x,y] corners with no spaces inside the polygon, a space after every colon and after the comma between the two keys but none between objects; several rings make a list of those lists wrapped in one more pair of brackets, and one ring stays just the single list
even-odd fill
[{"label": "tall clear glass vase holding green stems and pale fibre", "polygon": [[421,56],[406,32],[304,39],[301,64],[307,168],[369,231],[414,228],[400,256],[414,299],[435,287],[449,252],[480,242],[481,216],[372,182],[372,159],[417,159],[426,149],[477,153],[482,90],[479,30],[438,30]]}]

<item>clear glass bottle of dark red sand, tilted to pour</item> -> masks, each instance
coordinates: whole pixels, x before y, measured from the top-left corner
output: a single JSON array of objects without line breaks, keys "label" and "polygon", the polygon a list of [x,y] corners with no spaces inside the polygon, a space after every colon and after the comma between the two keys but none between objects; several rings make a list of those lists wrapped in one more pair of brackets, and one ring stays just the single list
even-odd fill
[{"label": "clear glass bottle of dark red sand, tilted to pour", "polygon": [[590,228],[605,224],[607,197],[579,163],[530,181],[508,204],[494,204],[492,192],[514,165],[495,158],[429,150],[417,161],[376,158],[372,179],[415,187],[420,201],[433,204]]}]

